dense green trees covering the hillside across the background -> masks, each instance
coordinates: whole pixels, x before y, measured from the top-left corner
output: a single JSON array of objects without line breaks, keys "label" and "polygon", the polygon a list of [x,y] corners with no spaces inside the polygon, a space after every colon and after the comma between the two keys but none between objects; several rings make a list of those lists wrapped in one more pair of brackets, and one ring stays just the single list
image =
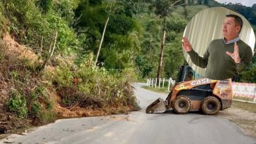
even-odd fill
[{"label": "dense green trees covering the hillside across the background", "polygon": [[[177,67],[184,63],[180,45],[186,23],[207,6],[225,6],[245,15],[252,25],[256,24],[256,4],[250,8],[241,4],[219,4],[212,0],[176,2],[37,0],[29,3],[11,0],[8,3],[2,1],[1,9],[6,13],[1,15],[11,22],[10,32],[13,37],[34,48],[43,58],[48,58],[53,32],[58,31],[54,54],[75,53],[77,64],[83,63],[89,53],[94,53],[96,58],[109,18],[97,65],[108,70],[134,68],[143,78],[155,77],[157,73],[160,76],[160,72],[161,77],[175,76]],[[177,6],[172,6],[174,3]],[[207,6],[195,6],[197,4]],[[165,44],[161,44],[164,33]],[[159,59],[160,53],[162,60]],[[161,70],[158,69],[160,61]]]}]

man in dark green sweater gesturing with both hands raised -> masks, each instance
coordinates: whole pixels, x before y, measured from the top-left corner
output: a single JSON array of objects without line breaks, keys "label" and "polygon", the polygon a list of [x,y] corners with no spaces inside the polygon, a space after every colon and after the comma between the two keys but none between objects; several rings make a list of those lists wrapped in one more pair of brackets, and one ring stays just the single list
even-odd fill
[{"label": "man in dark green sweater gesturing with both hands raised", "polygon": [[238,37],[242,27],[243,20],[238,15],[226,15],[222,26],[224,38],[213,40],[203,57],[193,51],[186,37],[182,38],[182,47],[195,65],[206,67],[205,77],[218,80],[235,79],[252,61],[252,49]]}]

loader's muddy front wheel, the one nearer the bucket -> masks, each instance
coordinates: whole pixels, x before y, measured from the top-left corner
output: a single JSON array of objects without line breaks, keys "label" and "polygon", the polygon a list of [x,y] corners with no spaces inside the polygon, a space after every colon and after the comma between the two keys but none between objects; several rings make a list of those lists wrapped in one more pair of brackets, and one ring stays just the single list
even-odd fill
[{"label": "loader's muddy front wheel, the one nearer the bucket", "polygon": [[191,102],[186,96],[179,96],[172,104],[174,113],[177,114],[186,114],[191,107]]}]

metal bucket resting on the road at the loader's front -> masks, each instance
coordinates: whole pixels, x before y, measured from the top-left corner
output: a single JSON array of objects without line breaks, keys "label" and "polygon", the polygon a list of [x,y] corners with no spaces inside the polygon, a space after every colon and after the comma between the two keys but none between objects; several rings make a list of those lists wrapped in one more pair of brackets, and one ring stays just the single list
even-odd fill
[{"label": "metal bucket resting on the road at the loader's front", "polygon": [[147,109],[146,109],[146,113],[147,114],[160,114],[160,113],[164,113],[166,111],[166,107],[165,107],[165,100],[162,100],[162,98],[158,98],[157,100],[155,100],[153,103],[151,103],[151,105],[148,105]]}]

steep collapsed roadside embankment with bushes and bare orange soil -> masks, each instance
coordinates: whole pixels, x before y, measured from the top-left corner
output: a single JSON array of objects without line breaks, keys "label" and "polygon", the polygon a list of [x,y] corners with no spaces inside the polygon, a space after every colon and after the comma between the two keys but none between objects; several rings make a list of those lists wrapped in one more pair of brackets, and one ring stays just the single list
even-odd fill
[{"label": "steep collapsed roadside embankment with bushes and bare orange soil", "polygon": [[[23,131],[32,124],[60,117],[91,117],[127,113],[137,104],[131,72],[110,74],[92,67],[90,60],[77,67],[58,59],[46,66],[31,48],[9,34],[0,41],[0,134]],[[62,58],[64,59],[64,58]],[[125,76],[125,77],[124,77]]]}]

